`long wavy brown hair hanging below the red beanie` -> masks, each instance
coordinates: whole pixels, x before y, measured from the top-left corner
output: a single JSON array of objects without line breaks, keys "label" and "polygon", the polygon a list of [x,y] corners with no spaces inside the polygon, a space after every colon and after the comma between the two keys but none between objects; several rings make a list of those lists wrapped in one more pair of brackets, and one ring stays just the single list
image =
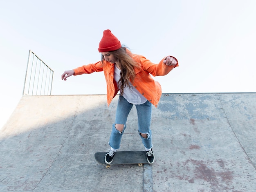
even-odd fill
[{"label": "long wavy brown hair hanging below the red beanie", "polygon": [[[135,78],[134,68],[139,67],[139,64],[135,62],[131,55],[126,52],[126,47],[121,47],[116,51],[110,51],[118,60],[121,69],[120,79],[118,81],[120,94],[123,95],[125,87],[131,87],[129,83],[133,84]],[[104,56],[101,56],[103,63]]]}]

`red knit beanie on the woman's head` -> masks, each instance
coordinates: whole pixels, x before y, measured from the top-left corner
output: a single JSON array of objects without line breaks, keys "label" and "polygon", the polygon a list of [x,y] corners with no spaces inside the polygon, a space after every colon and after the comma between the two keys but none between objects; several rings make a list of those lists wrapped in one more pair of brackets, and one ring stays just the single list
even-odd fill
[{"label": "red knit beanie on the woman's head", "polygon": [[103,37],[99,42],[98,51],[101,53],[101,52],[107,52],[107,51],[115,51],[120,48],[121,48],[121,43],[116,38],[116,36],[113,35],[109,29],[103,31]]}]

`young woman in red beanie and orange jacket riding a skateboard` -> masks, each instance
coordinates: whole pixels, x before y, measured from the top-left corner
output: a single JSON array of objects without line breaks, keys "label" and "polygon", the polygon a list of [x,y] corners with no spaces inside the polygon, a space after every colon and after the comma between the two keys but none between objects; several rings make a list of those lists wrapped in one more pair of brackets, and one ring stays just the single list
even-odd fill
[{"label": "young woman in red beanie and orange jacket riding a skateboard", "polygon": [[142,55],[132,54],[126,47],[121,46],[120,41],[110,30],[103,31],[98,51],[102,55],[101,61],[65,71],[61,75],[61,79],[65,81],[71,75],[104,71],[108,106],[120,91],[115,123],[112,125],[110,135],[110,150],[106,153],[105,162],[112,163],[115,152],[120,148],[128,114],[132,106],[135,105],[138,116],[138,132],[146,150],[146,157],[148,163],[154,163],[150,130],[151,111],[152,104],[157,107],[162,89],[151,75],[168,74],[178,66],[178,61],[175,57],[167,56],[159,64],[154,64]]}]

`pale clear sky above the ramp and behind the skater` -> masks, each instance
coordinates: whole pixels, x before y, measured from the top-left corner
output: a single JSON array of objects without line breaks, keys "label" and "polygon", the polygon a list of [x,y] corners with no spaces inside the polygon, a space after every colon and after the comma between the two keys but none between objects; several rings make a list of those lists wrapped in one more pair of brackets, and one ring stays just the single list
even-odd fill
[{"label": "pale clear sky above the ramp and behind the skater", "polygon": [[65,70],[100,60],[105,29],[133,53],[180,66],[163,93],[256,92],[256,0],[1,0],[0,128],[22,97],[31,49],[54,70],[52,95],[106,94],[103,73]]}]

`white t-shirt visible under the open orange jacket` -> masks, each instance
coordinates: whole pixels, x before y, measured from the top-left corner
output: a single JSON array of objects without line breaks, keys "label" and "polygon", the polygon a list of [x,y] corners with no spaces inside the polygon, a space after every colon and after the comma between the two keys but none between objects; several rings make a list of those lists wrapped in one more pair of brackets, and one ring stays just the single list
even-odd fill
[{"label": "white t-shirt visible under the open orange jacket", "polygon": [[[117,82],[118,87],[119,87],[118,81],[120,79],[120,73],[121,73],[121,70],[117,68],[117,66],[115,65],[114,79]],[[123,97],[131,104],[135,104],[135,105],[144,104],[148,99],[146,99],[143,95],[141,95],[141,93],[139,93],[139,91],[134,86],[132,86],[130,82],[129,84],[131,87],[126,86],[124,88]]]}]

